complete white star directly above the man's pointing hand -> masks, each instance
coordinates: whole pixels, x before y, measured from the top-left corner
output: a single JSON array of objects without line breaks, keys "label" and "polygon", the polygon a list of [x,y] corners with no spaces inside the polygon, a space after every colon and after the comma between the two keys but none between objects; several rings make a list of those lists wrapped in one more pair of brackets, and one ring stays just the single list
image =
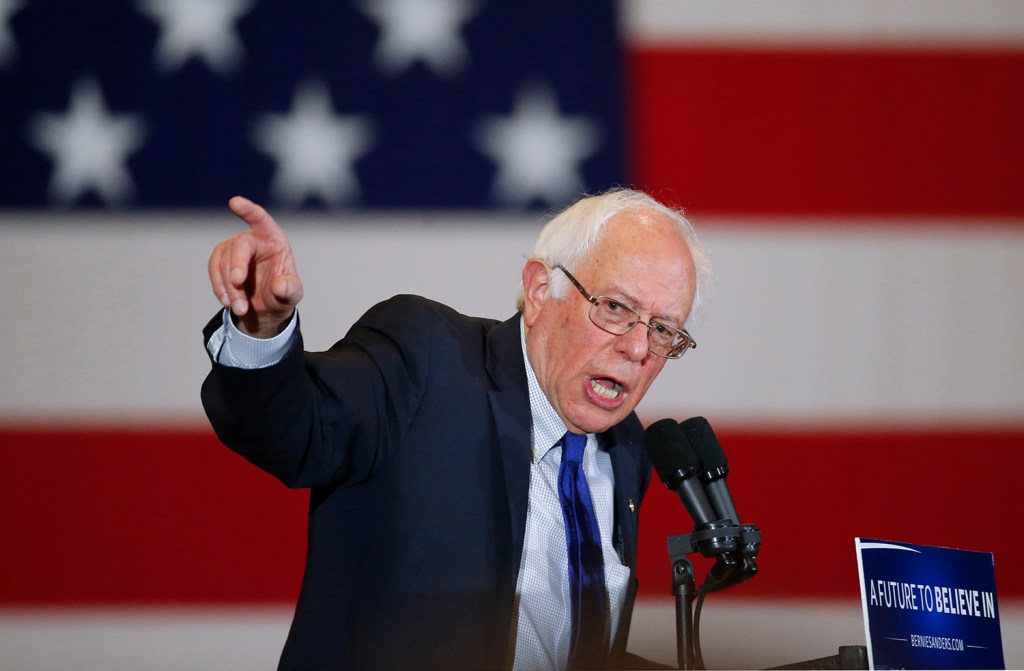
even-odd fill
[{"label": "complete white star directly above the man's pointing hand", "polygon": [[300,205],[319,196],[328,205],[359,194],[352,164],[372,144],[370,123],[335,114],[321,82],[296,89],[287,115],[265,115],[256,125],[256,145],[278,163],[270,191],[284,203]]}]

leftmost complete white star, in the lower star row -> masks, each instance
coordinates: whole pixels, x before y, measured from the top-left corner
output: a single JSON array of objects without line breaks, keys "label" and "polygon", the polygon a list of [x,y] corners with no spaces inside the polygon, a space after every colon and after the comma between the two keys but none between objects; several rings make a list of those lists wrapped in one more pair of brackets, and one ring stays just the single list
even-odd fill
[{"label": "leftmost complete white star, in the lower star row", "polygon": [[66,114],[38,114],[30,135],[54,163],[49,185],[54,200],[71,204],[92,190],[117,204],[134,192],[125,162],[142,144],[145,125],[137,115],[110,114],[95,80],[76,82]]}]

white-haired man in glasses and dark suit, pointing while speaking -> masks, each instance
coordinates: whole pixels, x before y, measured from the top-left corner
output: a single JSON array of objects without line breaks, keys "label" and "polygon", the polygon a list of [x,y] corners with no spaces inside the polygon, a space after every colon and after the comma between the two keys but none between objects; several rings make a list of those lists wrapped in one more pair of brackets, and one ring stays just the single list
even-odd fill
[{"label": "white-haired man in glasses and dark suit, pointing while speaking", "polygon": [[670,359],[707,254],[639,192],[542,232],[519,312],[416,296],[303,351],[288,240],[259,206],[210,258],[203,403],[221,441],[310,488],[288,669],[640,666],[626,652],[650,476],[634,409]]}]

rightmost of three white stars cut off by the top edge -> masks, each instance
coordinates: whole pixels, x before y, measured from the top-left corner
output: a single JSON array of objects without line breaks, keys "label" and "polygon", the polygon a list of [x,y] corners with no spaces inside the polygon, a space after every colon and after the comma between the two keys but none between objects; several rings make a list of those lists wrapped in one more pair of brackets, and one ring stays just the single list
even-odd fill
[{"label": "rightmost of three white stars cut off by the top edge", "polygon": [[417,60],[442,77],[466,66],[469,52],[460,32],[475,13],[472,0],[366,0],[362,10],[380,25],[374,59],[385,73]]}]

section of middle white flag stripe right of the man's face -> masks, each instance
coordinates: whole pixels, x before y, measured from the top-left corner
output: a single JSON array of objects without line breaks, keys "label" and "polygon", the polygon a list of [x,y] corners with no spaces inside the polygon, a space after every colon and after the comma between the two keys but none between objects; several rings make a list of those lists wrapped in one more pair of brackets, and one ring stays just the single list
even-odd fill
[{"label": "section of middle white flag stripe right of the man's face", "polygon": [[803,223],[705,236],[717,280],[698,348],[651,406],[755,423],[1024,418],[1024,228]]}]

